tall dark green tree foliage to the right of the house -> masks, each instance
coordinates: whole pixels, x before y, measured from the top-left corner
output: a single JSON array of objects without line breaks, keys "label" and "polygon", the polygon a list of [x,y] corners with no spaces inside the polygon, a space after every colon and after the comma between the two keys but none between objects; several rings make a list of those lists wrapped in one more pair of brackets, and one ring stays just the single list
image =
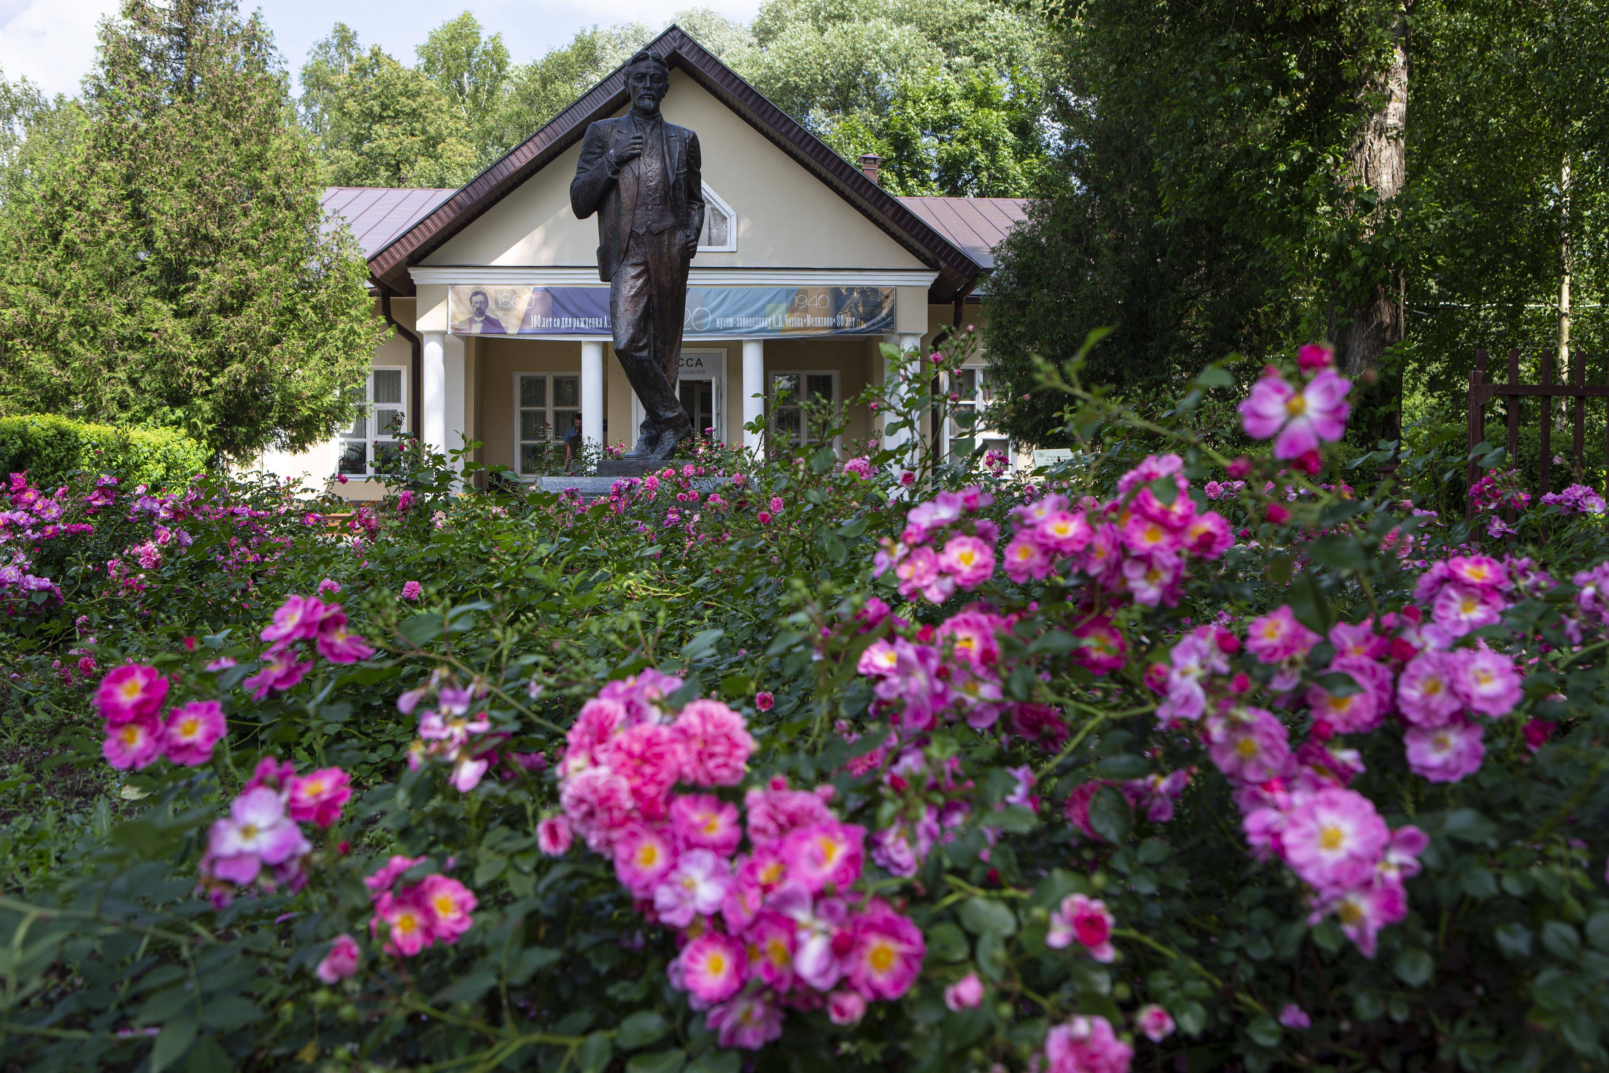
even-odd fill
[{"label": "tall dark green tree foliage to the right of the house", "polygon": [[[1456,420],[1474,351],[1603,349],[1609,26],[1595,3],[1416,3],[1406,182],[1376,211],[1347,171],[1381,101],[1400,5],[1070,5],[1051,100],[1065,130],[1028,227],[991,278],[1001,394],[1033,389],[1112,325],[1093,368],[1142,396],[1226,351],[1323,336],[1376,286],[1405,306],[1381,375],[1405,417]],[[1561,167],[1570,162],[1569,196]],[[1556,365],[1558,368],[1558,365]],[[1054,433],[1049,396],[1007,418]]]}]

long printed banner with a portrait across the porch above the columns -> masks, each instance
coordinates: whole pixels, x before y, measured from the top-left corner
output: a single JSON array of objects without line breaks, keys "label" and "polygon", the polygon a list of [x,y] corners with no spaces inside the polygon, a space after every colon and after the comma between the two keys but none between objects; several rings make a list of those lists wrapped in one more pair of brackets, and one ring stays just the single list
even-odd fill
[{"label": "long printed banner with a portrait across the porch above the columns", "polygon": [[[610,335],[607,286],[447,288],[452,335]],[[883,335],[891,286],[689,286],[684,339]]]}]

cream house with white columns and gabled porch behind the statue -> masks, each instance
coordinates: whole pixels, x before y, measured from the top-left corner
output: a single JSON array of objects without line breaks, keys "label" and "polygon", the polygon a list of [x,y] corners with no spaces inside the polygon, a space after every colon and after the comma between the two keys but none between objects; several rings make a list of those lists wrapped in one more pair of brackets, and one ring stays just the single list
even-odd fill
[{"label": "cream house with white columns and gabled porch behind the statue", "polygon": [[[758,449],[743,426],[764,417],[769,436],[798,441],[808,431],[779,393],[842,405],[882,380],[883,343],[925,352],[943,331],[981,327],[975,291],[1020,201],[895,198],[877,158],[854,167],[681,29],[648,48],[671,68],[666,119],[703,148],[679,383],[695,428]],[[436,449],[481,441],[478,462],[536,479],[578,412],[586,441],[629,449],[640,409],[610,346],[597,222],[570,208],[582,134],[626,108],[621,69],[460,190],[328,190],[330,222],[362,245],[393,333],[375,352],[370,413],[264,468],[341,473],[341,494],[377,499],[375,457],[405,428]],[[981,401],[981,370],[948,388]],[[877,433],[866,407],[843,415],[848,441]],[[944,449],[953,430],[932,425],[924,438]]]}]

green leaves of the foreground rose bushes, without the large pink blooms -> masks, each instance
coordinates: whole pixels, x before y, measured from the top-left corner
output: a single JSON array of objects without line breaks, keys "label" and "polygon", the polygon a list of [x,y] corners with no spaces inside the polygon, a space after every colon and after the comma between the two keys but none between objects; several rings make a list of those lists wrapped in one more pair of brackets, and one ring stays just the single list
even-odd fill
[{"label": "green leaves of the foreground rose bushes, without the large pink blooms", "polygon": [[[1035,1057],[1046,1030],[1075,1013],[1121,1031],[1136,1070],[1603,1068],[1609,642],[1578,616],[1590,635],[1572,643],[1561,632],[1577,606],[1566,579],[1609,552],[1599,516],[1530,512],[1506,549],[1561,584],[1514,590],[1501,623],[1477,634],[1538,656],[1519,708],[1490,722],[1479,772],[1437,783],[1409,774],[1395,724],[1331,742],[1361,750],[1353,790],[1393,828],[1429,837],[1422,872],[1405,878],[1406,919],[1364,956],[1337,919],[1308,919],[1310,894],[1290,872],[1247,853],[1218,753],[1208,758],[1189,724],[1158,729],[1158,697],[1144,682],[1150,664],[1197,635],[1194,624],[1218,615],[1239,632],[1242,619],[1290,605],[1327,629],[1414,603],[1424,560],[1475,550],[1466,544],[1475,534],[1414,518],[1401,500],[1426,502],[1464,460],[1408,452],[1400,483],[1347,491],[1339,481],[1358,481],[1379,458],[1347,470],[1329,455],[1310,483],[1258,457],[1250,486],[1224,492],[1223,455],[1184,426],[1228,380],[1204,373],[1160,426],[1062,381],[1076,410],[1068,434],[1084,454],[1036,476],[1031,492],[985,478],[996,502],[980,516],[1004,541],[1017,524],[1009,508],[1025,499],[1051,489],[1110,497],[1144,455],[1175,447],[1194,510],[1215,507],[1237,528],[1223,558],[1191,561],[1178,605],[1109,606],[1131,648],[1102,676],[1081,663],[1070,632],[1088,613],[1080,600],[1104,600],[1091,582],[999,576],[935,605],[901,597],[891,571],[874,576],[879,541],[899,532],[906,510],[975,475],[924,471],[890,499],[891,476],[867,481],[830,449],[745,465],[742,484],[718,486],[724,505],[689,500],[698,489],[679,475],[663,475],[655,499],[637,489],[587,508],[553,495],[459,497],[451,471],[418,473],[409,502],[349,520],[357,541],[327,528],[330,502],[198,483],[166,500],[161,523],[195,542],[167,545],[121,581],[103,563],[146,541],[153,516],[126,500],[98,513],[74,507],[95,532],[47,542],[34,563],[61,579],[64,602],[0,626],[10,642],[0,711],[24,761],[0,780],[0,1044],[29,1070],[150,1059],[154,1073],[248,1063],[735,1073],[745,1055],[718,1046],[703,1012],[666,983],[677,952],[669,928],[645,925],[610,862],[579,840],[562,856],[537,849],[537,820],[558,800],[553,767],[499,759],[460,791],[447,764],[404,763],[418,716],[397,711],[404,690],[433,680],[483,690],[476,708],[510,735],[497,748],[542,750],[555,764],[584,700],[656,668],[687,679],[666,703],[700,692],[743,714],[758,740],[745,785],[830,783],[833,806],[874,830],[954,809],[949,837],[914,874],[866,865],[862,883],[925,935],[914,986],[872,1002],[853,1026],[821,1009],[790,1012],[780,1041],[753,1055],[756,1068],[1046,1068]],[[730,460],[684,462],[697,473]],[[1270,500],[1257,491],[1265,478],[1302,492]],[[1173,487],[1167,478],[1130,492]],[[1287,507],[1289,521],[1266,521],[1273,505]],[[320,660],[298,684],[253,700],[243,680],[259,668],[257,632],[285,594],[311,594],[327,578],[341,590],[325,598],[378,652],[356,664]],[[422,582],[417,603],[410,581]],[[909,623],[869,624],[872,595]],[[870,754],[898,703],[874,698],[858,661],[874,642],[932,639],[973,602],[1012,616],[996,637],[1009,701],[1041,701],[1054,721],[1043,740],[1002,734],[1004,717],[903,730],[912,751],[896,775]],[[74,663],[85,656],[87,671]],[[1334,658],[1324,642],[1300,674],[1340,693],[1347,676],[1324,671]],[[1236,689],[1270,689],[1273,666],[1237,660],[1252,677]],[[169,703],[224,703],[230,737],[209,764],[105,766],[90,693],[122,661],[169,676]],[[1305,732],[1294,703],[1278,711],[1292,734]],[[1538,717],[1558,726],[1532,748],[1527,719]],[[270,753],[298,771],[341,766],[356,793],[333,825],[307,825],[304,890],[240,888],[214,907],[196,894],[206,828]],[[1171,819],[1131,809],[1115,788],[1192,766]],[[1012,796],[1018,772],[1036,780],[1030,798]],[[721,795],[737,801],[742,787]],[[467,933],[409,957],[380,951],[362,880],[394,853],[425,857],[401,882],[439,874],[473,891]],[[1073,894],[1113,914],[1110,962],[1047,943],[1052,914]],[[357,972],[323,983],[314,968],[338,933],[357,939]],[[985,1001],[946,1007],[946,988],[967,973]],[[1157,1042],[1131,1020],[1152,1002],[1176,1025]],[[1064,1057],[1051,1068],[1086,1067]]]}]

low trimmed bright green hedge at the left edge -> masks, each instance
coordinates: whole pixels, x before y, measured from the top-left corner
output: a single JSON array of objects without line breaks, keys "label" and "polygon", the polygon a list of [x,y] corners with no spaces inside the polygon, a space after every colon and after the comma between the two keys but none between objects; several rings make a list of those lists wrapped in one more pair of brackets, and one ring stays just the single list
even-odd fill
[{"label": "low trimmed bright green hedge at the left edge", "polygon": [[26,470],[39,487],[55,487],[74,471],[175,484],[206,468],[208,449],[171,428],[116,428],[53,413],[0,417],[0,475]]}]

